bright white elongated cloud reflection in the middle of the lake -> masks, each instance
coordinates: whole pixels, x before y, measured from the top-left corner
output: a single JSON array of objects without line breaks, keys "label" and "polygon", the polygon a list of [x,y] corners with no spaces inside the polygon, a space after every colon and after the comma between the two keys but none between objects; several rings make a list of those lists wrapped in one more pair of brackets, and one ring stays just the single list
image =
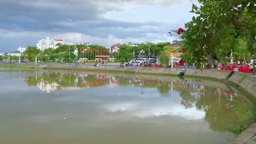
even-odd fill
[{"label": "bright white elongated cloud reflection in the middle of the lake", "polygon": [[196,110],[196,107],[191,109],[185,109],[183,105],[176,103],[118,103],[109,104],[104,107],[110,112],[129,112],[130,115],[145,118],[154,116],[165,116],[165,115],[175,115],[181,116],[186,119],[196,120],[203,119],[205,117],[205,112]]}]

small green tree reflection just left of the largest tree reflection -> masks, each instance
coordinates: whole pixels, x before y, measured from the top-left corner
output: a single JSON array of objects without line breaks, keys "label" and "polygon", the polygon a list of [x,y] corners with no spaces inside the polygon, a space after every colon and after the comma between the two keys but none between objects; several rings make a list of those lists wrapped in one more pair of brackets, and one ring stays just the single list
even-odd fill
[{"label": "small green tree reflection just left of the largest tree reflection", "polygon": [[179,96],[182,97],[181,104],[185,106],[185,109],[191,108],[192,103],[196,101],[195,95],[191,95],[187,88],[182,88]]}]

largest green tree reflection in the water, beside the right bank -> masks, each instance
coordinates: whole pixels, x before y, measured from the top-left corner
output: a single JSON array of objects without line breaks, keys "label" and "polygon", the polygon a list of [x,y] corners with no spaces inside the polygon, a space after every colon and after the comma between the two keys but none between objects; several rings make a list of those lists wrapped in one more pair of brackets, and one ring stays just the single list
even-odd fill
[{"label": "largest green tree reflection in the water, beside the right bank", "polygon": [[217,93],[216,88],[212,87],[205,87],[205,95],[200,96],[196,107],[206,112],[205,120],[210,123],[210,129],[216,131],[226,131],[229,125],[245,124],[252,119],[252,113],[248,113],[252,111],[251,106],[247,105],[245,110],[241,101],[238,99],[231,101],[226,95]]}]

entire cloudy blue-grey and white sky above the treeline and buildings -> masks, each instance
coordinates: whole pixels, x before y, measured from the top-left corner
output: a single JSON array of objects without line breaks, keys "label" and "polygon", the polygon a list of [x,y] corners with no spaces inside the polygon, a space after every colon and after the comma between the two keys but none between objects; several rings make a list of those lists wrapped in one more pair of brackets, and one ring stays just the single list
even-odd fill
[{"label": "entire cloudy blue-grey and white sky above the treeline and buildings", "polygon": [[191,20],[193,0],[8,0],[0,2],[0,53],[36,46],[40,39],[65,43],[172,41],[168,32]]}]

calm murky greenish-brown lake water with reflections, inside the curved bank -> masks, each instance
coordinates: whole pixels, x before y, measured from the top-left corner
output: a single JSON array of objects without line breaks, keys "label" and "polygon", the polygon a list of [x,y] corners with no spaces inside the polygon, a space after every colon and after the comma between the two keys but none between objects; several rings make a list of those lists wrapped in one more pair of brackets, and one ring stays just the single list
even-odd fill
[{"label": "calm murky greenish-brown lake water with reflections, inside the curved bank", "polygon": [[222,83],[55,71],[0,73],[0,143],[228,143],[253,108]]}]

